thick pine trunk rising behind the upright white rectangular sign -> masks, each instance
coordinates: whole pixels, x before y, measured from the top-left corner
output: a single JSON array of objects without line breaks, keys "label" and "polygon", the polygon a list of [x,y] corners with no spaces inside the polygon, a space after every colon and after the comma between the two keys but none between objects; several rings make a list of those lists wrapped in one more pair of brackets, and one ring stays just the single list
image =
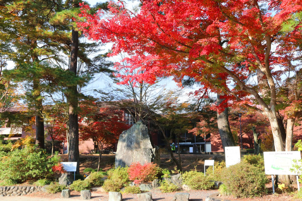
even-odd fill
[{"label": "thick pine trunk rising behind the upright white rectangular sign", "polygon": [[[220,96],[223,95],[224,93],[217,93],[217,105],[220,105],[223,101],[223,99],[220,98]],[[230,128],[228,108],[225,108],[221,113],[217,112],[217,124],[223,150],[226,146],[236,146]]]}]

